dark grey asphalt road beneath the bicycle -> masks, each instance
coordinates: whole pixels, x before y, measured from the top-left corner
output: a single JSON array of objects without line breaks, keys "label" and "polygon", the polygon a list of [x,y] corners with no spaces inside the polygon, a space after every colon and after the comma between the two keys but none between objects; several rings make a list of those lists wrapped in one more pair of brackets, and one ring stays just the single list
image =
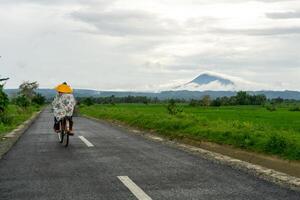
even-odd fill
[{"label": "dark grey asphalt road beneath the bicycle", "polygon": [[300,199],[299,192],[85,118],[75,118],[76,136],[64,148],[52,123],[44,111],[0,160],[0,199]]}]

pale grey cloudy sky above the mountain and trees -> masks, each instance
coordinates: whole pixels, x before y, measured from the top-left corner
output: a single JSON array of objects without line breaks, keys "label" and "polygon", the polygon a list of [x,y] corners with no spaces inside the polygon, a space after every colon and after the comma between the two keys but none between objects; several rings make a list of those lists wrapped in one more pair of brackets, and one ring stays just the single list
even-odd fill
[{"label": "pale grey cloudy sky above the mountain and trees", "polygon": [[156,90],[210,71],[300,90],[299,0],[0,0],[0,27],[7,88]]}]

